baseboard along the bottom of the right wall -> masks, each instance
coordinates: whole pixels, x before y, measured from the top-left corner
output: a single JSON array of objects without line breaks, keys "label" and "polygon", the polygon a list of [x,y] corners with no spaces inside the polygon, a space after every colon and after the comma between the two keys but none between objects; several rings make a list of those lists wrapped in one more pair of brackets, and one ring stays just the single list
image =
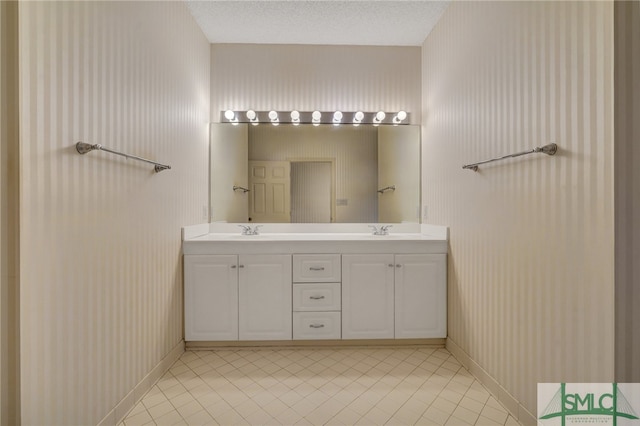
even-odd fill
[{"label": "baseboard along the bottom of the right wall", "polygon": [[529,410],[522,406],[513,395],[507,392],[496,379],[491,377],[485,369],[471,359],[471,357],[449,337],[447,338],[446,348],[520,423],[527,426],[534,426],[538,423],[536,417],[531,414]]}]

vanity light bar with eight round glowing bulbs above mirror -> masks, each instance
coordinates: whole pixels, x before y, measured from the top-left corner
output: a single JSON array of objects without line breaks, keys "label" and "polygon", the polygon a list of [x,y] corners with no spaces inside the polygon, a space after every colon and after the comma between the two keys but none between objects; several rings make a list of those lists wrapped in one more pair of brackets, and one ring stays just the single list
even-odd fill
[{"label": "vanity light bar with eight round glowing bulbs above mirror", "polygon": [[[318,115],[320,117],[318,118]],[[266,123],[266,124],[333,124],[333,125],[404,125],[409,124],[410,114],[406,111],[233,111],[220,112],[222,123]],[[253,117],[253,118],[250,118]],[[274,118],[275,117],[275,118]]]}]

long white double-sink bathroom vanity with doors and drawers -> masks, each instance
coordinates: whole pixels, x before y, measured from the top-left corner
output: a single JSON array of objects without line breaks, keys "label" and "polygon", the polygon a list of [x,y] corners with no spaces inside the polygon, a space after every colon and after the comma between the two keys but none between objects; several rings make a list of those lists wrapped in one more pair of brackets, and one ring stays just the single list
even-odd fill
[{"label": "long white double-sink bathroom vanity with doors and drawers", "polygon": [[447,228],[238,224],[183,229],[185,340],[444,338]]}]

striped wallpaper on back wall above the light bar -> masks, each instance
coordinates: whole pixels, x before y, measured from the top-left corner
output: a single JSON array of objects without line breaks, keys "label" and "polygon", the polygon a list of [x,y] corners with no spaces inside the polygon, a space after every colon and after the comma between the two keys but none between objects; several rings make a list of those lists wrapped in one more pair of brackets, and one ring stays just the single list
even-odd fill
[{"label": "striped wallpaper on back wall above the light bar", "polygon": [[211,121],[226,109],[405,110],[420,124],[420,47],[211,45]]}]

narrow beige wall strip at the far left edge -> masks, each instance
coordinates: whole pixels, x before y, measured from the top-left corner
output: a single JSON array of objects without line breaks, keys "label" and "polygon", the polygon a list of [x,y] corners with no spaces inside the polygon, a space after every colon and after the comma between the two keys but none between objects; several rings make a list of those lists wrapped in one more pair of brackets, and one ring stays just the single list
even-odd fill
[{"label": "narrow beige wall strip at the far left edge", "polygon": [[18,4],[0,2],[0,424],[19,423]]}]

